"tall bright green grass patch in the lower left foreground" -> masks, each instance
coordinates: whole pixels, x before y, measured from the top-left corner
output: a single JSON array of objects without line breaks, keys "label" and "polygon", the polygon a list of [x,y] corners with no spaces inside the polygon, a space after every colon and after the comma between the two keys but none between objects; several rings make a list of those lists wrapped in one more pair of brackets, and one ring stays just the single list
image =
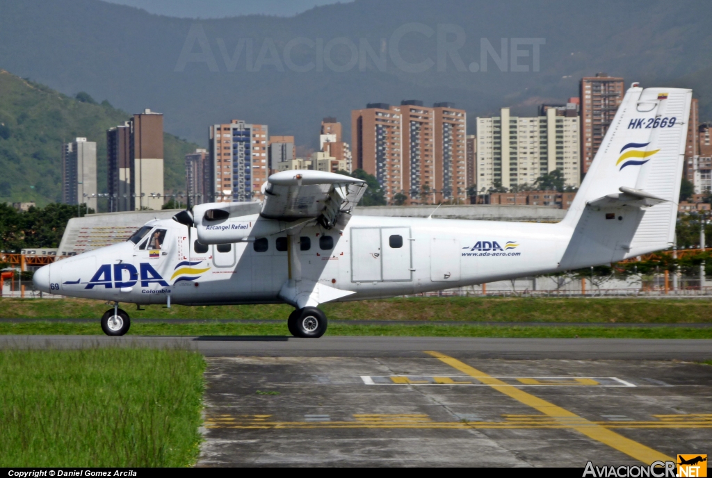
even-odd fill
[{"label": "tall bright green grass patch in the lower left foreground", "polygon": [[184,467],[204,360],[182,350],[0,351],[0,467]]}]

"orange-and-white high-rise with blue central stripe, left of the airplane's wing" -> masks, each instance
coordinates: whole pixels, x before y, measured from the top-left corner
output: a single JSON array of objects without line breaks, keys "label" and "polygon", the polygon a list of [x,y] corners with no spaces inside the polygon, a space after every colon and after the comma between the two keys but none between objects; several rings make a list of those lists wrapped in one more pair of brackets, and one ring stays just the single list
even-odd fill
[{"label": "orange-and-white high-rise with blue central stripe, left of the airplane's wing", "polygon": [[210,127],[211,201],[258,201],[269,176],[266,124],[233,119]]}]

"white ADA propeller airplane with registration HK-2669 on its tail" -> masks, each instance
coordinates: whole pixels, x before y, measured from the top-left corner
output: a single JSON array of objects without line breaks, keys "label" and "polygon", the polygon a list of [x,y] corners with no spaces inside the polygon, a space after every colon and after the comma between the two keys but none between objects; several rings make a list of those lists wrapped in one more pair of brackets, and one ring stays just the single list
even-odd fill
[{"label": "white ADA propeller airplane with registration HK-2669 on its tail", "polygon": [[[38,290],[114,302],[294,307],[291,334],[320,337],[324,302],[375,299],[609,264],[674,240],[692,91],[626,92],[557,224],[352,216],[365,183],[282,171],[262,203],[208,203],[150,221],[125,243],[46,265]],[[582,128],[590,127],[582,118]]]}]

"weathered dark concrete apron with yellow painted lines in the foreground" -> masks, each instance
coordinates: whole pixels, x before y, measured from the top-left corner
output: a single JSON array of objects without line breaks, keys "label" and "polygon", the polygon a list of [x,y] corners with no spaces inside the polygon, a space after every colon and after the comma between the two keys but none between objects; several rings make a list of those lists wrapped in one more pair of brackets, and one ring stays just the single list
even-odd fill
[{"label": "weathered dark concrete apron with yellow painted lines in the foreground", "polygon": [[710,366],[456,357],[525,398],[434,357],[208,359],[198,466],[584,467],[709,451]]}]

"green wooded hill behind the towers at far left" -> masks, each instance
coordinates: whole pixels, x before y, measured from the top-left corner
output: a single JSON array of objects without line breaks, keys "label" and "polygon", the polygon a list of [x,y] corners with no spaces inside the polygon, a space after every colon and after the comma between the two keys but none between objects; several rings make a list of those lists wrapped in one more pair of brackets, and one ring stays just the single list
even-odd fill
[{"label": "green wooded hill behind the towers at far left", "polygon": [[[75,137],[97,143],[98,191],[106,192],[106,130],[129,117],[86,93],[68,97],[0,70],[0,202],[60,201],[62,143]],[[164,133],[167,191],[185,190],[184,156],[197,147]]]}]

